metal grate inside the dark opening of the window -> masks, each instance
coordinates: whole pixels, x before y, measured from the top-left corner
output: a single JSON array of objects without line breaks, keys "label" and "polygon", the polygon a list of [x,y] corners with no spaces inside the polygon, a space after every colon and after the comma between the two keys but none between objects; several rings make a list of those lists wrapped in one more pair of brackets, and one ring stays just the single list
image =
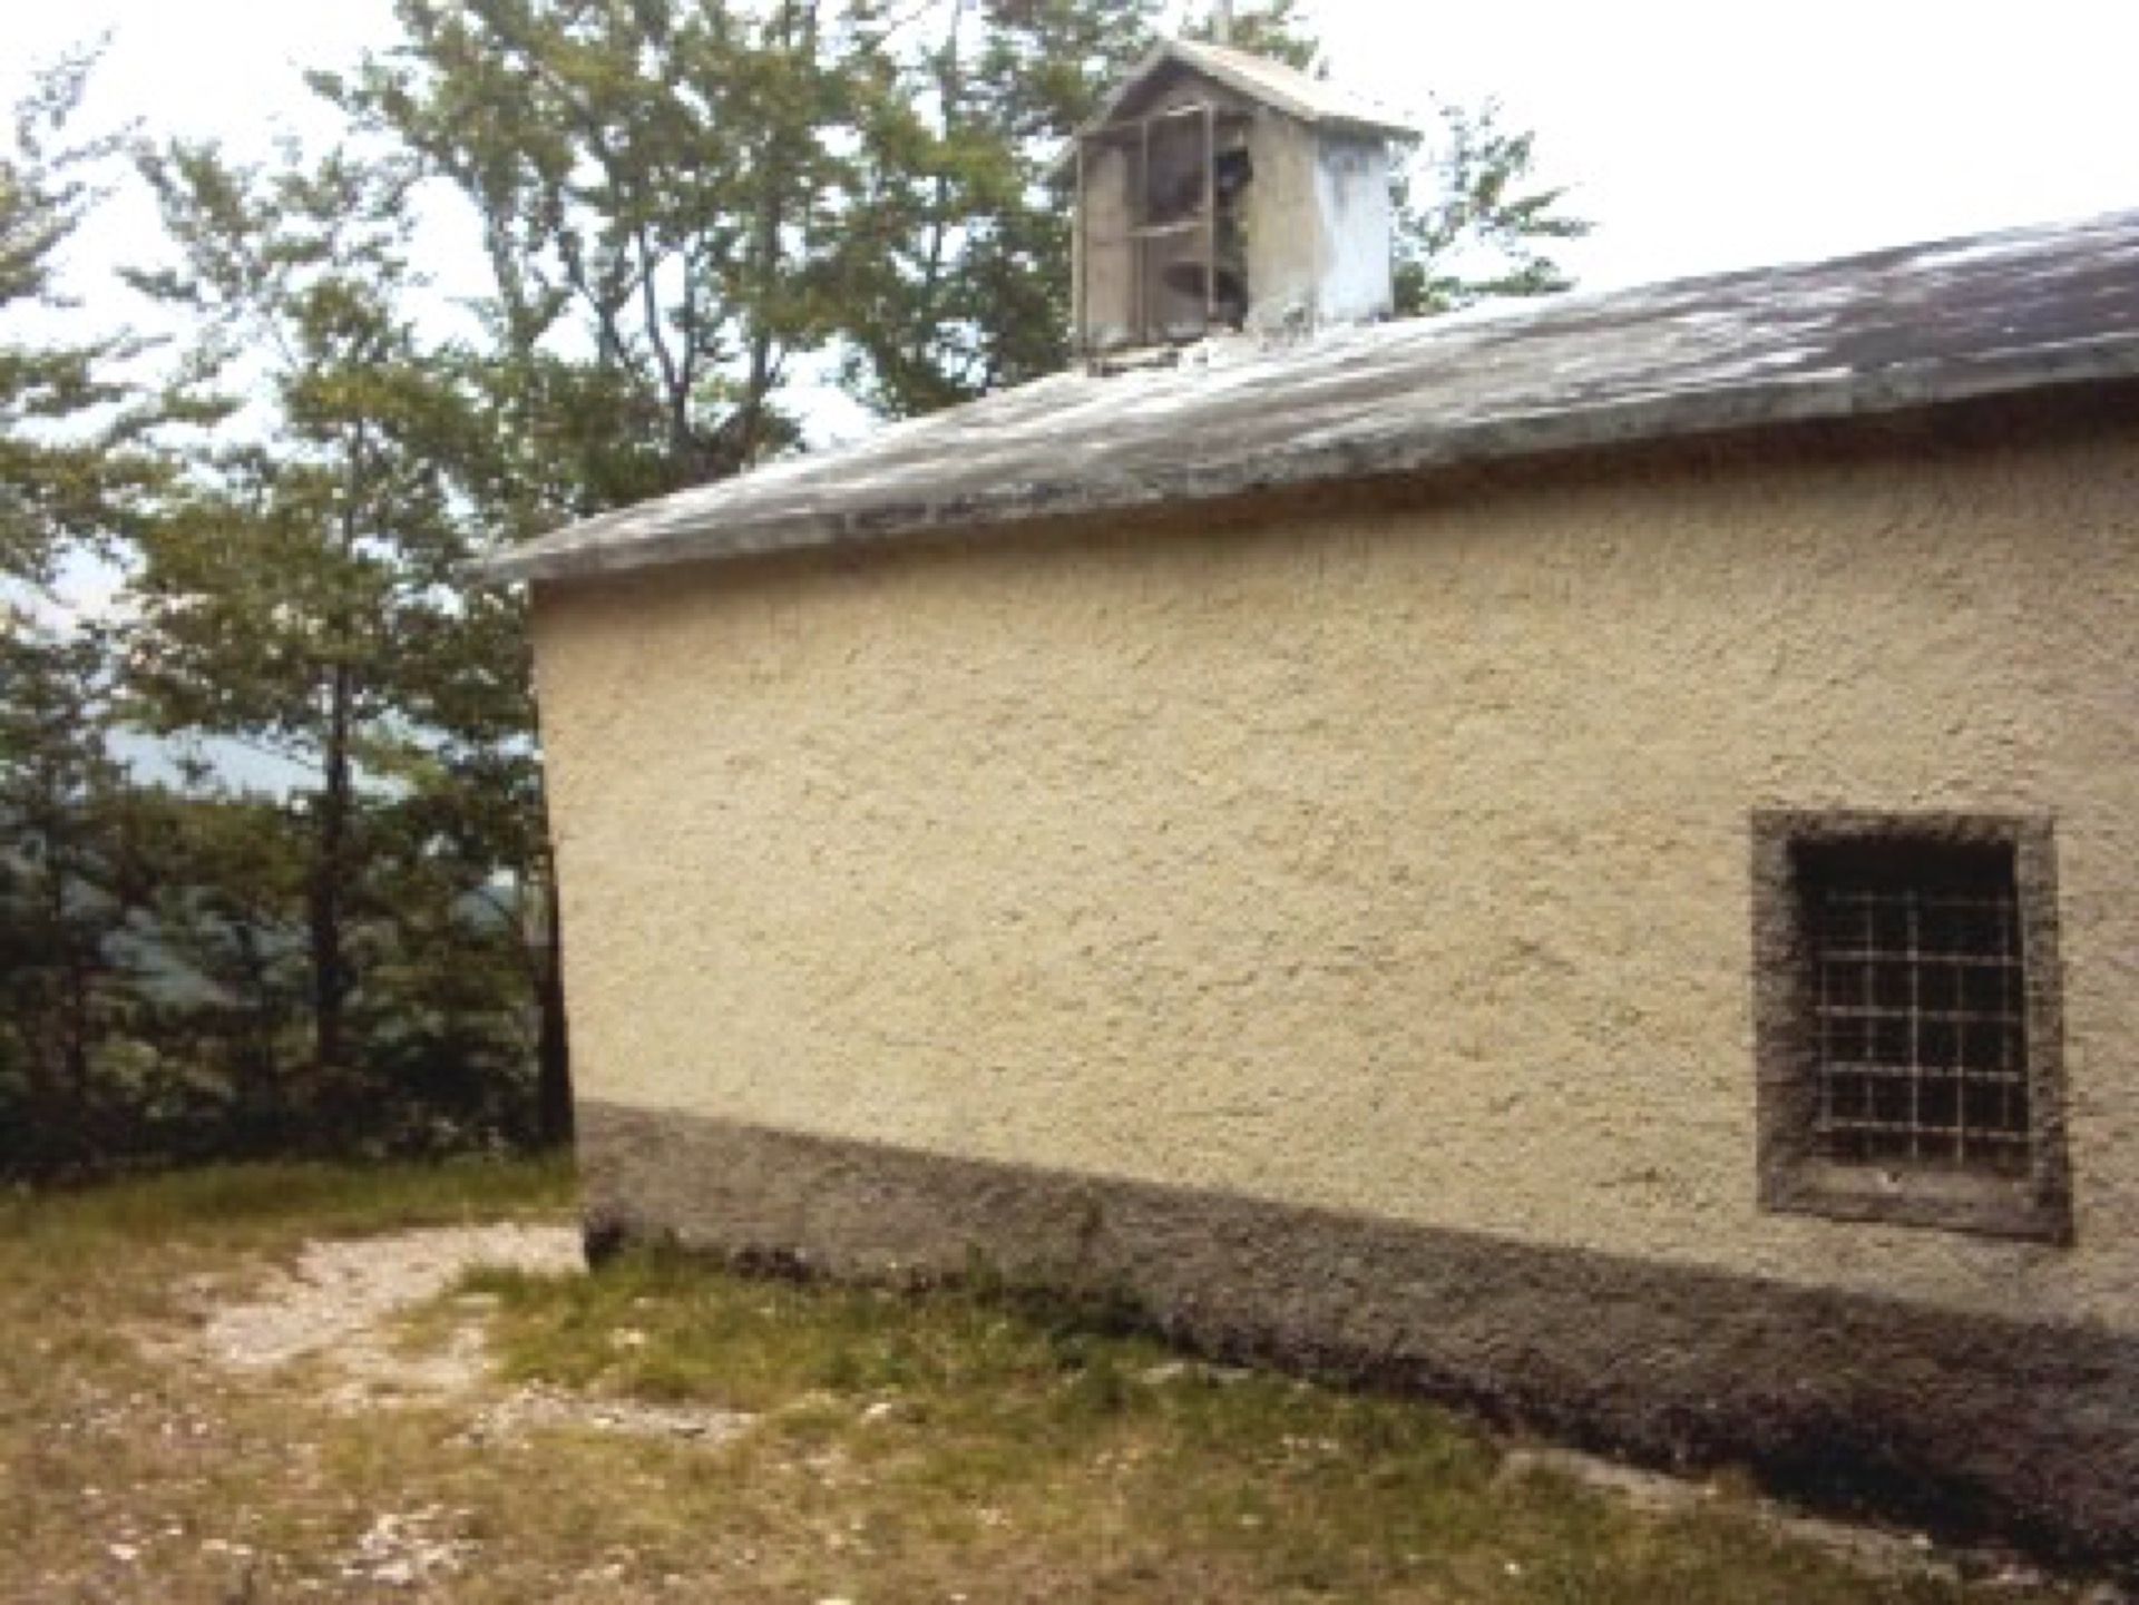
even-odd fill
[{"label": "metal grate inside the dark opening of the window", "polygon": [[1889,844],[1805,866],[1829,1158],[2026,1171],[2011,853]]}]

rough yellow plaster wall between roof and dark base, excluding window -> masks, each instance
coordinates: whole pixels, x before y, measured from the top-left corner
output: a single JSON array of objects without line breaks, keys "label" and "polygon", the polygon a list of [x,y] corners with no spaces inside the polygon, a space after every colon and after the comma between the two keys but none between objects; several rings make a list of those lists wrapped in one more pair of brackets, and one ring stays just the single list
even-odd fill
[{"label": "rough yellow plaster wall between roof and dark base, excluding window", "polygon": [[[2139,1329],[2135,445],[545,588],[580,1092]],[[1758,1212],[1754,808],[2056,814],[2075,1248]]]}]

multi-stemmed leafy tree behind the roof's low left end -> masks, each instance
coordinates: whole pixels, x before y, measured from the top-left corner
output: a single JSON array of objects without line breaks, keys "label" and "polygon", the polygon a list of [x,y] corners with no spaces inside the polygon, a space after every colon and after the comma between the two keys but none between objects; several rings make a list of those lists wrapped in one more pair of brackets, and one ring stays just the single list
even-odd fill
[{"label": "multi-stemmed leafy tree behind the roof's low left end", "polygon": [[556,511],[794,445],[779,393],[864,248],[841,145],[868,71],[843,19],[817,0],[396,13],[398,49],[314,83],[473,203],[496,353],[571,468]]}]

